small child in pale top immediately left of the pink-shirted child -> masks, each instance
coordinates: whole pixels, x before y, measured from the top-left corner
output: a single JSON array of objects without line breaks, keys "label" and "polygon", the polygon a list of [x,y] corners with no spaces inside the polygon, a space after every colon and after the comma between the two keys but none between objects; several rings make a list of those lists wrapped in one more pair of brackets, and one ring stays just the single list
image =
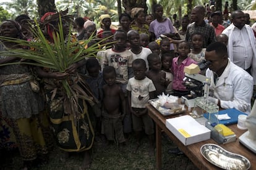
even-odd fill
[{"label": "small child in pale top immediately left of the pink-shirted child", "polygon": [[171,73],[171,65],[173,63],[173,55],[165,53],[161,57],[162,70],[166,74],[166,90],[165,92],[170,94],[173,92],[173,73]]}]

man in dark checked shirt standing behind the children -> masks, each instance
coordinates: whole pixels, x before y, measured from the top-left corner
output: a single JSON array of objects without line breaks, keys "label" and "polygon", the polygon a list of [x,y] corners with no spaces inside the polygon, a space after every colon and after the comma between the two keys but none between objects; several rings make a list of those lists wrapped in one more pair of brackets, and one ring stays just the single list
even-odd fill
[{"label": "man in dark checked shirt standing behind the children", "polygon": [[191,43],[191,35],[193,33],[201,33],[203,35],[203,48],[216,41],[215,30],[213,26],[205,23],[205,8],[203,6],[195,6],[191,12],[191,23],[187,27],[186,41]]}]

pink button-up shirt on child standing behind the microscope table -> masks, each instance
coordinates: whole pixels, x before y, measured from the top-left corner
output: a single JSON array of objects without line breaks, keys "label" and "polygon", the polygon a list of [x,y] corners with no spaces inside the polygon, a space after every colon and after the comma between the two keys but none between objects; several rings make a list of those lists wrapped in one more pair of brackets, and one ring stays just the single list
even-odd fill
[{"label": "pink button-up shirt on child standing behind the microscope table", "polygon": [[181,65],[178,65],[178,59],[179,57],[173,59],[173,67],[171,70],[173,73],[173,89],[177,91],[187,91],[186,87],[182,84],[184,83],[183,79],[185,76],[184,67],[189,66],[192,63],[197,64],[197,62],[187,57],[187,59],[183,60]]}]

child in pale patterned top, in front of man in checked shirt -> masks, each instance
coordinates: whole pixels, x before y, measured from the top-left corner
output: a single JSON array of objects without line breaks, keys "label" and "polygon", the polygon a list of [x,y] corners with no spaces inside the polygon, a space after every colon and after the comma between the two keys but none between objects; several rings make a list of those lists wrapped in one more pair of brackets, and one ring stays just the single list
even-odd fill
[{"label": "child in pale patterned top, in front of man in checked shirt", "polygon": [[200,33],[193,33],[191,36],[192,49],[188,54],[188,57],[195,60],[196,62],[201,62],[205,59],[205,48],[203,48],[203,35]]}]

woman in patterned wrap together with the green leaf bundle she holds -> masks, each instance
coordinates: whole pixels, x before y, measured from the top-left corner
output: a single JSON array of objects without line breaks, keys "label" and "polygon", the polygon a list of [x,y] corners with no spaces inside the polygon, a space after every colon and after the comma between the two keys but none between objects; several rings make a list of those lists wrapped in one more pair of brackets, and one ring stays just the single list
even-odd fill
[{"label": "woman in patterned wrap together with the green leaf bundle she holds", "polygon": [[[72,44],[75,39],[69,31],[71,21],[72,17],[63,13],[48,12],[41,18],[47,30],[48,41],[51,42],[50,46],[54,51],[56,50],[58,57],[62,56],[63,59],[59,60],[62,62],[59,69],[38,67],[37,73],[45,83],[49,117],[56,143],[66,152],[66,156],[69,152],[83,152],[82,168],[85,169],[91,163],[90,148],[94,140],[91,118],[96,99],[82,76],[76,71],[85,63],[85,59],[81,52],[83,48],[79,49],[74,43]],[[74,59],[72,57],[80,57],[80,59],[67,63]]]}]

